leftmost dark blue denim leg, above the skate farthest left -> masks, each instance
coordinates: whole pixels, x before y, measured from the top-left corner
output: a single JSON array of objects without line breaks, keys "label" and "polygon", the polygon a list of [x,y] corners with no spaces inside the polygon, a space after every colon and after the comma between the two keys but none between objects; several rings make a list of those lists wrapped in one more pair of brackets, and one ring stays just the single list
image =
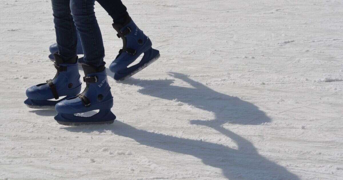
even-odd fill
[{"label": "leftmost dark blue denim leg, above the skate farthest left", "polygon": [[51,0],[51,4],[59,54],[63,59],[73,58],[76,56],[77,35],[69,0]]}]

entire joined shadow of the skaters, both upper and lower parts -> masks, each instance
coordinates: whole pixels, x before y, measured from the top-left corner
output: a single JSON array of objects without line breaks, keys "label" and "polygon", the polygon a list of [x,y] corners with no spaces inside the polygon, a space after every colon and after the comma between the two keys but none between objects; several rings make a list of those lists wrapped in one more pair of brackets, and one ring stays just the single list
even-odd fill
[{"label": "entire joined shadow of the skaters, both upper and lower parts", "polygon": [[[121,121],[115,121],[109,126],[66,127],[63,129],[83,133],[111,131],[116,135],[129,137],[142,145],[191,155],[201,159],[205,165],[222,169],[223,175],[228,179],[299,179],[286,168],[261,156],[251,142],[222,126],[228,122],[250,125],[270,122],[271,119],[258,107],[237,97],[213,91],[203,84],[191,80],[187,75],[180,73],[170,73],[170,75],[191,84],[194,88],[173,86],[171,85],[173,80],[138,80],[132,77],[122,83],[143,87],[139,92],[145,95],[168,100],[177,98],[181,102],[214,112],[215,119],[213,120],[192,120],[191,123],[215,129],[232,139],[236,143],[237,149],[216,143],[144,131]],[[204,100],[205,97],[215,98]]]}]

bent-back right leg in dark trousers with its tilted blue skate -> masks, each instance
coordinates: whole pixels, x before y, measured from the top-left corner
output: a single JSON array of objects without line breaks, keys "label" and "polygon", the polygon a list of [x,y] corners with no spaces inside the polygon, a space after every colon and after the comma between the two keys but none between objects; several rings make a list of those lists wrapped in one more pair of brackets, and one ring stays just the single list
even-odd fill
[{"label": "bent-back right leg in dark trousers with its tilted blue skate", "polygon": [[[109,67],[115,73],[115,80],[125,80],[158,59],[159,51],[152,49],[151,40],[132,21],[121,0],[97,1],[112,17],[117,36],[123,41],[123,48]],[[140,62],[128,68],[142,53],[144,56]]]}]

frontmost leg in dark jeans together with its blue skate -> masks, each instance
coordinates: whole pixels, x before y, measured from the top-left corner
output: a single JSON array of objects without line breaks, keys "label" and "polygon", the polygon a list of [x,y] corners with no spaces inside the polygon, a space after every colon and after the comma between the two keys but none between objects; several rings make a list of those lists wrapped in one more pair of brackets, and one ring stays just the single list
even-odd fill
[{"label": "frontmost leg in dark jeans together with its blue skate", "polygon": [[[71,0],[70,8],[85,53],[82,68],[86,88],[81,94],[56,104],[55,120],[63,125],[113,123],[116,118],[111,112],[113,97],[103,61],[104,47],[94,13],[94,0]],[[75,115],[93,110],[99,112],[91,117]]]}]

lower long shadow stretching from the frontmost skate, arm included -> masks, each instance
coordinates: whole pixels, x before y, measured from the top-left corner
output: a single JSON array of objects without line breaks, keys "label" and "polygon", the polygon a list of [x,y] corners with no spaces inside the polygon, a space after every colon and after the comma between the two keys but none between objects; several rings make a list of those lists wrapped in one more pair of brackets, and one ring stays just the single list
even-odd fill
[{"label": "lower long shadow stretching from the frontmost skate, arm included", "polygon": [[83,133],[112,131],[114,134],[131,138],[142,145],[197,157],[205,165],[222,169],[223,175],[228,179],[298,179],[284,167],[259,155],[249,141],[222,127],[217,130],[235,141],[238,149],[148,132],[120,121],[115,121],[114,124],[107,126],[64,127],[62,129]]}]

